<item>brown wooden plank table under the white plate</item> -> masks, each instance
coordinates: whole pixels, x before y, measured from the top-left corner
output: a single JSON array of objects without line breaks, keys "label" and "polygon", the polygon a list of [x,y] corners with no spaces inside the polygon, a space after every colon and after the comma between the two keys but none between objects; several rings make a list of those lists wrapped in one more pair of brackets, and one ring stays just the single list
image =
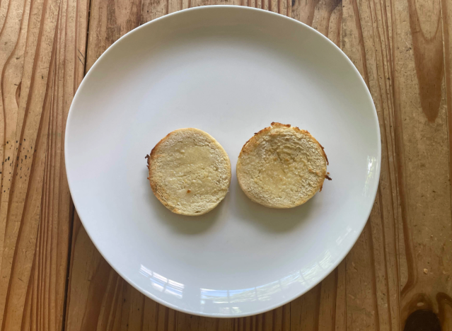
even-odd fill
[{"label": "brown wooden plank table under the white plate", "polygon": [[[81,226],[64,169],[69,105],[100,54],[207,4],[264,8],[327,35],[380,120],[380,187],[357,244],[307,294],[249,318],[178,313],[129,286]],[[1,331],[452,330],[452,1],[0,0],[0,29]]]}]

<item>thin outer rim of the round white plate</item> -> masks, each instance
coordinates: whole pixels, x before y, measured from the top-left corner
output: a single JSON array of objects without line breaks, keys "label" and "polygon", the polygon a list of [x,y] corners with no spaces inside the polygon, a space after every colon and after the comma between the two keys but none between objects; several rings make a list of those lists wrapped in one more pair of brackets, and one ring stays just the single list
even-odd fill
[{"label": "thin outer rim of the round white plate", "polygon": [[[377,162],[376,162],[376,179],[377,184],[375,185],[375,188],[373,190],[373,192],[371,194],[369,194],[369,197],[371,197],[371,201],[372,203],[370,204],[370,208],[369,211],[366,213],[367,217],[366,217],[366,221],[364,221],[361,225],[361,228],[359,229],[359,231],[357,231],[357,238],[355,240],[353,240],[353,244],[350,245],[349,248],[347,248],[346,250],[343,250],[344,254],[342,257],[340,257],[340,259],[337,260],[337,262],[333,263],[330,267],[328,267],[328,273],[325,274],[324,277],[319,278],[317,281],[314,281],[313,284],[310,284],[309,286],[306,287],[306,289],[303,289],[302,291],[300,291],[299,293],[296,293],[294,295],[289,295],[288,298],[285,298],[283,301],[276,303],[276,304],[272,304],[270,306],[268,306],[267,308],[260,308],[257,310],[253,310],[253,312],[251,313],[238,313],[238,314],[233,314],[233,313],[203,313],[203,312],[196,312],[196,311],[192,311],[186,308],[182,308],[180,306],[175,306],[172,303],[168,303],[167,301],[164,301],[163,299],[159,298],[158,296],[155,296],[153,294],[151,294],[150,292],[146,291],[145,289],[142,289],[138,284],[135,284],[134,281],[132,281],[132,279],[129,279],[129,277],[127,277],[125,274],[123,274],[117,267],[115,267],[115,265],[113,265],[110,260],[104,255],[103,251],[98,247],[98,244],[95,243],[95,240],[93,240],[93,238],[91,237],[91,233],[89,233],[89,231],[86,229],[85,226],[85,222],[83,221],[82,217],[79,214],[79,208],[77,207],[77,202],[76,199],[74,199],[74,196],[72,194],[72,189],[71,189],[71,180],[69,180],[69,167],[68,167],[68,158],[69,158],[69,146],[68,146],[68,139],[66,139],[66,137],[69,137],[69,126],[70,126],[70,122],[71,122],[71,114],[74,113],[74,103],[76,98],[79,96],[79,94],[81,93],[81,86],[83,85],[83,83],[85,83],[86,78],[88,76],[90,76],[93,72],[93,69],[95,69],[95,67],[98,65],[98,62],[100,62],[100,60],[105,56],[105,54],[107,54],[108,52],[111,52],[111,50],[115,47],[115,45],[117,45],[120,40],[122,40],[123,38],[131,35],[132,33],[136,33],[138,30],[140,30],[141,28],[145,28],[148,25],[152,25],[153,23],[156,23],[157,21],[161,21],[161,20],[166,20],[168,17],[170,16],[178,16],[178,15],[184,15],[184,13],[188,12],[188,11],[206,11],[209,9],[219,9],[221,10],[221,8],[233,8],[234,10],[237,11],[259,11],[261,13],[265,13],[266,15],[269,16],[279,16],[279,18],[282,19],[286,19],[289,21],[292,21],[294,23],[300,24],[303,26],[303,28],[308,28],[308,30],[311,30],[313,33],[315,33],[315,35],[317,35],[317,37],[320,37],[323,40],[326,40],[328,43],[330,43],[330,45],[332,45],[332,47],[335,47],[336,50],[339,51],[339,54],[347,61],[349,62],[349,64],[352,65],[352,70],[355,71],[355,73],[357,74],[357,76],[359,77],[359,81],[361,81],[361,84],[365,87],[365,93],[367,95],[367,98],[369,98],[369,100],[371,101],[371,107],[373,109],[373,119],[375,120],[375,124],[376,124],[376,134],[377,134]],[[74,98],[71,101],[71,106],[69,108],[69,112],[67,115],[67,119],[66,119],[66,126],[64,129],[64,167],[66,170],[66,178],[67,178],[67,182],[68,182],[68,186],[69,186],[69,192],[71,193],[71,200],[74,203],[74,208],[77,211],[77,214],[79,215],[79,219],[83,225],[83,228],[85,228],[86,233],[88,234],[88,238],[90,238],[91,242],[93,243],[93,245],[95,246],[95,248],[98,250],[98,252],[100,253],[100,255],[105,259],[105,261],[108,262],[108,265],[110,265],[110,267],[112,267],[113,270],[115,270],[115,272],[117,272],[117,274],[120,275],[120,277],[122,277],[122,279],[124,279],[125,281],[127,281],[128,284],[130,284],[132,287],[134,287],[134,289],[137,289],[137,291],[139,291],[141,294],[144,294],[144,296],[147,296],[148,298],[151,298],[153,301],[156,301],[157,303],[160,303],[163,306],[166,306],[168,308],[177,310],[181,313],[187,313],[190,315],[197,315],[197,316],[202,316],[202,317],[207,317],[207,318],[243,318],[243,317],[248,317],[248,316],[253,316],[253,315],[258,315],[261,313],[267,313],[270,310],[274,310],[276,308],[282,307],[284,305],[286,305],[287,303],[290,303],[291,301],[294,301],[296,298],[299,298],[300,296],[303,296],[303,294],[306,294],[308,291],[311,291],[311,289],[313,289],[315,286],[317,286],[318,284],[320,284],[321,281],[323,281],[326,277],[328,277],[328,275],[331,274],[331,272],[334,271],[334,269],[345,259],[345,257],[347,257],[347,255],[349,254],[349,252],[352,250],[352,248],[354,247],[354,245],[356,245],[359,237],[361,236],[362,231],[364,230],[364,227],[366,226],[367,222],[369,221],[369,216],[371,214],[371,211],[373,209],[373,204],[375,202],[376,199],[376,194],[378,192],[378,187],[380,186],[380,176],[381,176],[381,132],[380,132],[380,122],[378,120],[378,114],[376,111],[376,107],[375,107],[375,103],[373,102],[373,98],[371,95],[371,92],[369,91],[369,87],[366,84],[366,81],[364,81],[363,77],[361,76],[361,73],[359,72],[359,70],[357,69],[357,67],[354,65],[354,63],[352,62],[351,59],[349,59],[349,57],[347,56],[347,54],[345,54],[340,47],[338,47],[334,42],[332,42],[328,37],[325,37],[325,35],[323,35],[322,33],[318,32],[318,30],[315,30],[314,28],[312,28],[311,26],[301,22],[301,21],[297,21],[294,18],[288,17],[288,16],[284,16],[282,14],[279,13],[275,13],[273,11],[267,11],[265,9],[261,9],[261,8],[254,8],[254,7],[248,7],[248,6],[237,6],[237,5],[209,5],[209,6],[198,6],[198,7],[193,7],[193,8],[186,8],[186,9],[182,9],[180,11],[175,11],[174,13],[168,13],[166,15],[163,15],[159,18],[156,18],[152,21],[146,22],[140,26],[138,26],[137,28],[134,28],[132,30],[130,30],[129,32],[125,33],[124,35],[122,35],[120,38],[118,38],[115,42],[112,43],[112,45],[110,45],[107,50],[105,50],[100,57],[98,57],[98,59],[95,60],[94,64],[91,66],[91,68],[88,70],[88,72],[85,74],[85,76],[83,76],[83,80],[81,81],[81,83],[79,84],[79,87],[76,90],[76,93],[74,94]],[[342,254],[340,254],[342,255]]]}]

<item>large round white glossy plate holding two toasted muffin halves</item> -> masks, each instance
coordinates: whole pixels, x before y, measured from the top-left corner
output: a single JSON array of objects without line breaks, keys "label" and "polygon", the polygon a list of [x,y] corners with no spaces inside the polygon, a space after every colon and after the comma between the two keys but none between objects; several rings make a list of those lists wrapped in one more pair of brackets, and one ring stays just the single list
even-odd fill
[{"label": "large round white glossy plate holding two toasted muffin halves", "polygon": [[[271,122],[325,146],[332,181],[306,204],[268,209],[236,179],[245,141]],[[230,192],[204,216],[153,196],[144,156],[174,129],[215,137]],[[371,95],[326,37],[254,8],[180,11],[120,38],[88,72],[66,127],[66,169],[83,226],[146,296],[185,313],[238,317],[277,308],[325,278],[364,228],[381,144]]]}]

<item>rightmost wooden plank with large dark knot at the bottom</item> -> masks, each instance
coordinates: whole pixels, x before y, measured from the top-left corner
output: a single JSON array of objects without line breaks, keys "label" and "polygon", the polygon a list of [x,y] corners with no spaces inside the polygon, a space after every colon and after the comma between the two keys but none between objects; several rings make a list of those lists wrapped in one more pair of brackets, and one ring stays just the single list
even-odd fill
[{"label": "rightmost wooden plank with large dark knot at the bottom", "polygon": [[[442,5],[442,6],[441,6]],[[441,1],[394,6],[395,142],[405,250],[402,326],[415,310],[451,317],[450,8]],[[441,13],[441,10],[444,11]],[[442,19],[441,19],[442,18]],[[405,37],[411,35],[411,38]],[[425,318],[437,319],[430,313]],[[443,329],[446,330],[446,329]]]}]

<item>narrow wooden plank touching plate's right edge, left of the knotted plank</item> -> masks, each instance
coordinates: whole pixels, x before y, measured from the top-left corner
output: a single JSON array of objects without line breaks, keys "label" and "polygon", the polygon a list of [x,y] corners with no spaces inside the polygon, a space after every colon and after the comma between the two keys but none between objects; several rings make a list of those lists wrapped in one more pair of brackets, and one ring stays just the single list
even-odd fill
[{"label": "narrow wooden plank touching plate's right edge, left of the knotted plank", "polygon": [[[400,327],[397,260],[397,188],[391,134],[391,16],[383,1],[349,1],[342,16],[342,49],[357,66],[373,95],[382,139],[381,180],[364,232],[347,256],[347,327]],[[352,286],[353,285],[353,286]]]}]

